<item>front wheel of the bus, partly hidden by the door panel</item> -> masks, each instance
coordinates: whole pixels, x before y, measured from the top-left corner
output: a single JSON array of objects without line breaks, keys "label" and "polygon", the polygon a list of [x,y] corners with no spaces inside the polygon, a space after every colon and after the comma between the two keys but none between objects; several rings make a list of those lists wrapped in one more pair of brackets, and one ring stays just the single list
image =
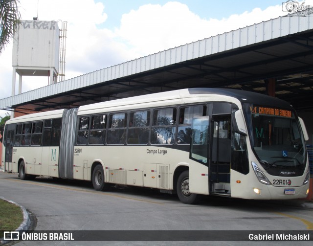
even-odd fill
[{"label": "front wheel of the bus, partly hidden by the door panel", "polygon": [[176,191],[179,200],[185,204],[196,204],[200,201],[199,194],[189,192],[189,171],[183,171],[177,180]]}]

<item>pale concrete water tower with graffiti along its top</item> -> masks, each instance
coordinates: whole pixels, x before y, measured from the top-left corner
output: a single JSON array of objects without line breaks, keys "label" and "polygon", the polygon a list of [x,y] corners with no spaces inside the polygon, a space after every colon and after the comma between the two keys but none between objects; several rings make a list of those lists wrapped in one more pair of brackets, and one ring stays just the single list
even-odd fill
[{"label": "pale concrete water tower with graffiti along its top", "polygon": [[22,76],[48,76],[49,84],[57,83],[60,29],[55,21],[21,21],[14,35],[12,55],[12,95],[15,95],[16,73],[19,94]]}]

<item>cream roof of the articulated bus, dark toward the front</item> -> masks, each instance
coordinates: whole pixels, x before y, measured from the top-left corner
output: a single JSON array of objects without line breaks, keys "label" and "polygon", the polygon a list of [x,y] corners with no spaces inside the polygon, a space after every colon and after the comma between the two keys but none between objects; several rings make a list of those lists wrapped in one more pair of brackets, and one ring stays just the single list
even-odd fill
[{"label": "cream roof of the articulated bus, dark toward the front", "polygon": [[[191,88],[158,92],[153,94],[140,95],[135,97],[128,97],[112,101],[84,105],[79,107],[78,114],[82,114],[86,111],[96,112],[98,109],[103,108],[115,108],[115,109],[120,108],[122,110],[123,107],[128,106],[126,108],[130,109],[132,108],[131,106],[140,104],[144,104],[145,107],[150,106],[153,107],[153,105],[155,105],[156,103],[162,104],[161,103],[162,101],[164,102],[164,105],[168,105],[169,101],[171,102],[171,105],[175,105],[182,103],[183,98],[212,97],[212,95],[215,96],[214,101],[224,101],[226,100],[225,97],[228,97],[226,101],[229,101],[230,98],[233,98],[234,99],[233,102],[239,100],[241,103],[253,103],[255,105],[275,105],[276,107],[280,108],[292,107],[288,102],[283,101],[281,99],[246,90],[224,89],[224,88]],[[46,116],[50,116],[52,118],[62,117],[63,111],[64,109],[27,114],[11,119],[8,121],[8,123],[14,123],[25,120],[27,121],[28,119],[41,120],[46,118]]]}]

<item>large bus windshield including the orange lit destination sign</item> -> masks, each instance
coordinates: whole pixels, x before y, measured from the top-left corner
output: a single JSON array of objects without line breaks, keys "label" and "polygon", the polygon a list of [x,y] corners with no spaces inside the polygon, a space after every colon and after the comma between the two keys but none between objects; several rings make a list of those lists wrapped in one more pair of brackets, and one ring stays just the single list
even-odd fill
[{"label": "large bus windshield including the orange lit destination sign", "polygon": [[251,147],[271,175],[300,176],[305,168],[305,142],[291,109],[245,105]]}]

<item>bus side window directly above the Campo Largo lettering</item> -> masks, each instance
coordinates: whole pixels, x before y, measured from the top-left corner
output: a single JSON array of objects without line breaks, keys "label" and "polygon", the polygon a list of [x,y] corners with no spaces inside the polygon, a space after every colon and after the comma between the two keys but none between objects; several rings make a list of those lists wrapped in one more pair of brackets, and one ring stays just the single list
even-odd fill
[{"label": "bus side window directly above the Campo Largo lettering", "polygon": [[173,144],[176,131],[176,108],[153,111],[151,144]]}]

